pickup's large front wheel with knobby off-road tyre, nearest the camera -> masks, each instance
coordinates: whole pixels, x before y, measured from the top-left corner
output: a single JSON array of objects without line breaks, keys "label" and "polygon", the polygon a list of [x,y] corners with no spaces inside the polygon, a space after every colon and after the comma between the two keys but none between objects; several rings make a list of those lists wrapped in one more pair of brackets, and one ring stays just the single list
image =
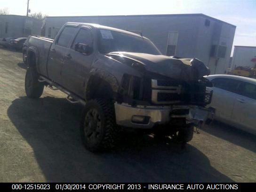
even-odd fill
[{"label": "pickup's large front wheel with knobby off-road tyre, nearest the camera", "polygon": [[82,115],[80,133],[82,142],[89,151],[98,152],[114,147],[119,130],[111,101],[88,101]]}]

